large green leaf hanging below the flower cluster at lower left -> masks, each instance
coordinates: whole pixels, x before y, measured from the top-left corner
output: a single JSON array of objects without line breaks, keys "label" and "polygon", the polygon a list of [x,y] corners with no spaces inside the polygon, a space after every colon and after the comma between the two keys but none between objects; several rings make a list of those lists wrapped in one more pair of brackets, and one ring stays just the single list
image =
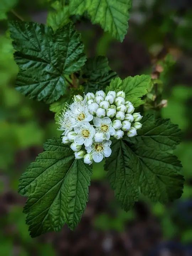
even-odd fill
[{"label": "large green leaf hanging below the flower cluster at lower left", "polygon": [[74,229],[86,207],[92,168],[61,142],[48,140],[20,178],[18,192],[28,196],[24,213],[32,237],[59,231],[65,222]]}]

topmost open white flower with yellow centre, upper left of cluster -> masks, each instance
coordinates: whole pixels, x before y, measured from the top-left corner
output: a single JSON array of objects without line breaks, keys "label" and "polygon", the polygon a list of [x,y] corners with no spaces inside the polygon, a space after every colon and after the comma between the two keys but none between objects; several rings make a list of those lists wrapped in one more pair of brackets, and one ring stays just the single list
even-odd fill
[{"label": "topmost open white flower with yellow centre, upper left of cluster", "polygon": [[71,127],[78,127],[81,123],[90,122],[93,119],[93,116],[89,113],[88,108],[91,105],[86,106],[82,104],[77,104],[74,107],[71,107],[71,112],[69,116],[69,119],[71,121]]}]

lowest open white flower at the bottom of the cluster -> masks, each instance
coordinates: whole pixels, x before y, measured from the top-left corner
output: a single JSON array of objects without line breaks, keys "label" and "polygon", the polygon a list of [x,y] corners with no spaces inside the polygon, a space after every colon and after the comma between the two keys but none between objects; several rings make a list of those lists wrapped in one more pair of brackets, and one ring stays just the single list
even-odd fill
[{"label": "lowest open white flower at the bottom of the cluster", "polygon": [[90,153],[95,162],[101,162],[104,157],[111,155],[111,140],[105,140],[102,143],[94,142],[91,146],[85,147],[87,153]]}]

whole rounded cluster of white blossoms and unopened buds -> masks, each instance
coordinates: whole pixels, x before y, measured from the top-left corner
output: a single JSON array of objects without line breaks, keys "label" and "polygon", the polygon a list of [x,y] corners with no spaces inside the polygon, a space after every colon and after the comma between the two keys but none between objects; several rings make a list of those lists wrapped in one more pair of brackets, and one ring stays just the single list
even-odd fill
[{"label": "whole rounded cluster of white blossoms and unopened buds", "polygon": [[76,95],[73,100],[59,116],[59,130],[64,131],[62,142],[70,144],[75,158],[84,158],[86,164],[111,155],[111,136],[134,137],[142,127],[142,116],[133,113],[134,107],[125,101],[123,91],[109,91],[107,95],[104,91],[88,92],[84,98]]}]

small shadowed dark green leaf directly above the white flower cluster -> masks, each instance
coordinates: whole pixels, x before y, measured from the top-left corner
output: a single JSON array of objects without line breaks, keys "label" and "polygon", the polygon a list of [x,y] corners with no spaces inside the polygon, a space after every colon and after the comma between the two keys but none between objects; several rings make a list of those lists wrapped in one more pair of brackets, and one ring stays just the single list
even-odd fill
[{"label": "small shadowed dark green leaf directly above the white flower cluster", "polygon": [[84,78],[85,92],[96,92],[105,90],[116,73],[108,66],[108,59],[104,56],[87,59],[82,68],[82,77]]}]

